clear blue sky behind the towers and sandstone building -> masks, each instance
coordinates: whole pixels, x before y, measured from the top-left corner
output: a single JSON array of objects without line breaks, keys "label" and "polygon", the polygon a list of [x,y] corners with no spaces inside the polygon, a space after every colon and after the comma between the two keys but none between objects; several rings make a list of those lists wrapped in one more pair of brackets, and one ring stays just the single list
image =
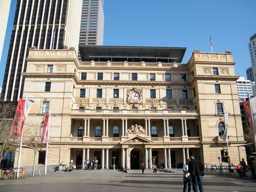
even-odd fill
[{"label": "clear blue sky behind the towers and sandstone building", "polygon": [[[16,0],[12,0],[0,63],[0,86],[8,54]],[[247,44],[256,32],[256,0],[104,0],[103,45],[187,47],[233,54],[235,72],[245,76],[251,66]]]}]

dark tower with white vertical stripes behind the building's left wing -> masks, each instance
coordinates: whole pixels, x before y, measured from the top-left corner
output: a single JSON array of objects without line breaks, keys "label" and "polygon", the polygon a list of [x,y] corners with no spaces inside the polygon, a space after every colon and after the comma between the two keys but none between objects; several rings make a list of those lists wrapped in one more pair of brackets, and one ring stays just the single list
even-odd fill
[{"label": "dark tower with white vertical stripes behind the building's left wing", "polygon": [[78,49],[82,0],[18,0],[4,74],[2,97],[22,95],[28,49]]}]

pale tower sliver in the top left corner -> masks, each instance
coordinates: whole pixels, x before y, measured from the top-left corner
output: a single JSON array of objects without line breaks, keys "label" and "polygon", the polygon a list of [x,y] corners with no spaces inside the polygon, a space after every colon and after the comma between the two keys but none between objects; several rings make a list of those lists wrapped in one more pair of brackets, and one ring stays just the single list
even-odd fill
[{"label": "pale tower sliver in the top left corner", "polygon": [[8,15],[10,10],[11,0],[0,1],[0,60],[3,50],[3,42],[7,27]]}]

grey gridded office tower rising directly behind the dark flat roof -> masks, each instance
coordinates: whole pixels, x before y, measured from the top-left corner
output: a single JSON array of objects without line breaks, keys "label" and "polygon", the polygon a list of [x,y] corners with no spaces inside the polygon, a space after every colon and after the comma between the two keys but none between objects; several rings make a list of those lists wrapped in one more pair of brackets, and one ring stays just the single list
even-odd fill
[{"label": "grey gridded office tower rising directly behind the dark flat roof", "polygon": [[[83,0],[79,45],[103,45],[104,0]],[[78,58],[81,61],[80,53]]]}]

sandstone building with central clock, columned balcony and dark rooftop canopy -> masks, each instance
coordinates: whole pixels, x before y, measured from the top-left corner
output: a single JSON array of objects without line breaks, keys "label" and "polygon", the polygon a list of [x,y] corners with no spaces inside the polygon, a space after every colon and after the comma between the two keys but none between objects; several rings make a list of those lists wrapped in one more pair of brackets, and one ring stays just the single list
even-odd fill
[{"label": "sandstone building with central clock, columned balcony and dark rooftop canopy", "polygon": [[[175,168],[190,155],[217,165],[221,156],[225,164],[223,112],[230,113],[230,161],[238,164],[246,155],[239,147],[245,141],[232,54],[194,50],[182,64],[185,50],[84,46],[79,62],[74,48],[30,48],[23,97],[35,102],[27,123],[41,124],[49,111],[56,115],[48,165],[83,165],[97,157],[99,168],[108,169],[116,157],[116,165],[131,169],[153,162]],[[42,148],[37,166],[44,155]],[[33,165],[32,157],[23,148],[21,166]]]}]

